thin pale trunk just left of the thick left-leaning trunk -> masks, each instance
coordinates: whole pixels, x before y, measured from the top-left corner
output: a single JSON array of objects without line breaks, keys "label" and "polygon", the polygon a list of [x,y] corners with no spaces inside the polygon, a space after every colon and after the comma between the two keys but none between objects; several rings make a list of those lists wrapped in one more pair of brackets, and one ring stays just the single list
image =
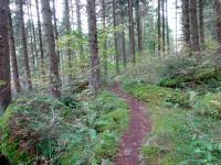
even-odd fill
[{"label": "thin pale trunk just left of the thick left-leaning trunk", "polygon": [[40,69],[41,69],[42,76],[45,77],[44,51],[43,51],[42,29],[41,29],[40,11],[39,11],[39,0],[35,0],[35,7],[36,7],[36,21],[38,21],[38,31],[39,31]]}]

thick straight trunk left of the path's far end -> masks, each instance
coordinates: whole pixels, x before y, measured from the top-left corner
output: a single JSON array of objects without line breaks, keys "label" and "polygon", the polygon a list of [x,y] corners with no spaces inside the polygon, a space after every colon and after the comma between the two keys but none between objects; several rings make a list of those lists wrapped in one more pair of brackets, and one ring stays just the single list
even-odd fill
[{"label": "thick straight trunk left of the path's far end", "polygon": [[96,26],[96,4],[95,0],[87,0],[87,20],[91,50],[91,75],[90,86],[95,95],[99,89],[99,59],[97,45],[97,26]]}]

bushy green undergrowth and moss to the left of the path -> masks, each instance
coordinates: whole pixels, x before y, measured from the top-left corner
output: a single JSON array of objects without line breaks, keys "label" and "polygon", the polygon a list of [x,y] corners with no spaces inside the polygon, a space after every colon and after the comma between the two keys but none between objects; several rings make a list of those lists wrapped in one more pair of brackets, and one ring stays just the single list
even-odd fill
[{"label": "bushy green undergrowth and moss to the left of the path", "polygon": [[127,106],[108,91],[74,98],[18,98],[0,118],[0,153],[14,165],[112,163],[128,125]]}]

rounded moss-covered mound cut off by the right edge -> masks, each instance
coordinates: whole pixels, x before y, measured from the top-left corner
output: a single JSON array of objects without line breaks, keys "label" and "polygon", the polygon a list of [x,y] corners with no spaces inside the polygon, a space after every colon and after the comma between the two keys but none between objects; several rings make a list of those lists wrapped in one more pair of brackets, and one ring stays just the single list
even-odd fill
[{"label": "rounded moss-covered mound cut off by the right edge", "polygon": [[196,111],[199,114],[210,116],[221,119],[221,92],[207,94],[198,99],[194,105]]}]

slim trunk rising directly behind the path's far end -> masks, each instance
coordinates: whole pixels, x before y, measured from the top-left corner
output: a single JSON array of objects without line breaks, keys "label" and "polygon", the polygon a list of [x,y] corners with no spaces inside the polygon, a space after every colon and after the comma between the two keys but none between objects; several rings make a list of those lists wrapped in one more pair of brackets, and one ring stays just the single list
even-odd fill
[{"label": "slim trunk rising directly behind the path's far end", "polygon": [[[117,26],[116,21],[116,0],[113,0],[113,23],[114,28]],[[119,53],[118,53],[118,41],[117,41],[117,32],[114,31],[114,45],[115,45],[115,62],[116,62],[116,74],[119,74]]]}]

